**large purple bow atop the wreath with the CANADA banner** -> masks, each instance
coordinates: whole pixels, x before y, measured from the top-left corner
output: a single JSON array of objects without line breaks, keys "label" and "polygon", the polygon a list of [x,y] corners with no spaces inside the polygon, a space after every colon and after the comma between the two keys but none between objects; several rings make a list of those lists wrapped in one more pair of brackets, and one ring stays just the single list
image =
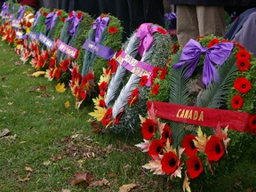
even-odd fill
[{"label": "large purple bow atop the wreath with the CANADA banner", "polygon": [[[188,41],[183,48],[180,55],[180,62],[173,65],[172,68],[181,68],[183,65],[185,67],[185,77],[188,78],[192,76],[195,71],[200,57],[205,53],[204,68],[203,68],[203,84],[208,85],[213,79],[218,80],[219,75],[217,74],[217,69],[213,64],[221,66],[229,57],[232,52],[234,44],[233,43],[220,43],[214,44],[210,49],[203,48],[201,44],[193,39]],[[213,79],[212,79],[213,78]]]}]

